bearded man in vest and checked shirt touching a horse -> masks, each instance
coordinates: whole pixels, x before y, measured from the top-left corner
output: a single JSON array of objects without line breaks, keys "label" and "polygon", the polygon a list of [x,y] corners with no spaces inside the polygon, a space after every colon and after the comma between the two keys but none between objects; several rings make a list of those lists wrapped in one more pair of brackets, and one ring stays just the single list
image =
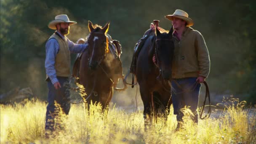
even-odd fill
[{"label": "bearded man in vest and checked shirt touching a horse", "polygon": [[[54,118],[59,115],[59,111],[69,114],[70,110],[70,92],[69,77],[70,71],[70,52],[81,53],[88,44],[75,44],[66,37],[69,34],[69,27],[76,24],[75,21],[69,21],[67,15],[58,15],[55,20],[48,24],[50,29],[56,30],[48,39],[45,58],[46,81],[48,84],[48,105],[45,120],[45,135],[48,137],[60,126],[55,124]],[[56,108],[56,103],[61,110]]]}]

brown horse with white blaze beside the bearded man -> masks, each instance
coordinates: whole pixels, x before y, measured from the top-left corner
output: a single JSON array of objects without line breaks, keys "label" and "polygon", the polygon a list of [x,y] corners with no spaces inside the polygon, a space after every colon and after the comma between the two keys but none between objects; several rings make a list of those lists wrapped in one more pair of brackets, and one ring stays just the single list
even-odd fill
[{"label": "brown horse with white blaze beside the bearded man", "polygon": [[109,52],[106,36],[109,23],[102,28],[88,21],[88,29],[88,49],[80,61],[80,84],[85,88],[88,103],[100,102],[106,108],[113,96],[113,86],[120,78],[118,72],[122,73],[122,64]]}]

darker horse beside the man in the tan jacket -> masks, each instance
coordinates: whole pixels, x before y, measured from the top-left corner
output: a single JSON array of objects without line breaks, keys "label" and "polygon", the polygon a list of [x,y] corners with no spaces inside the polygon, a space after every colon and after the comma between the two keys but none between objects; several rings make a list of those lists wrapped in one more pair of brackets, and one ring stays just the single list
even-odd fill
[{"label": "darker horse beside the man in the tan jacket", "polygon": [[[152,115],[162,115],[166,118],[171,106],[171,87],[168,80],[171,77],[174,44],[173,28],[161,33],[157,28],[149,35],[137,59],[136,78],[140,86],[141,99],[144,104],[145,126],[152,120]],[[152,57],[155,54],[157,67]],[[150,119],[147,119],[147,115]]]}]

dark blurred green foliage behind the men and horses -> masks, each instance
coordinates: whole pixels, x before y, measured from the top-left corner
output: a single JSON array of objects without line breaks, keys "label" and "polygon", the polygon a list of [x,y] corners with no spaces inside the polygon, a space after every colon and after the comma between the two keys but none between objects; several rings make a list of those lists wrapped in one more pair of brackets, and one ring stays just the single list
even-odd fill
[{"label": "dark blurred green foliage behind the men and horses", "polygon": [[110,21],[109,34],[123,46],[126,74],[133,46],[152,20],[169,30],[171,22],[164,16],[175,9],[187,11],[195,22],[192,28],[205,38],[211,92],[241,95],[255,103],[255,0],[0,0],[0,93],[31,87],[46,99],[45,42],[53,33],[47,25],[58,14],[78,22],[68,35],[74,42],[88,34],[88,20],[100,25]]}]

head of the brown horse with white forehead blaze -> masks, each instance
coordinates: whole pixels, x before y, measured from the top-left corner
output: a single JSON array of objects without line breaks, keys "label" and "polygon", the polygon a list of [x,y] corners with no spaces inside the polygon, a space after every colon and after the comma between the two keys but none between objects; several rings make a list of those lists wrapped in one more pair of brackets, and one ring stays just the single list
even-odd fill
[{"label": "head of the brown horse with white forehead blaze", "polygon": [[106,53],[109,52],[108,40],[106,34],[109,29],[109,22],[102,28],[99,25],[93,25],[88,21],[90,35],[88,37],[88,53],[90,56],[89,67],[95,70],[101,61],[105,59]]}]

